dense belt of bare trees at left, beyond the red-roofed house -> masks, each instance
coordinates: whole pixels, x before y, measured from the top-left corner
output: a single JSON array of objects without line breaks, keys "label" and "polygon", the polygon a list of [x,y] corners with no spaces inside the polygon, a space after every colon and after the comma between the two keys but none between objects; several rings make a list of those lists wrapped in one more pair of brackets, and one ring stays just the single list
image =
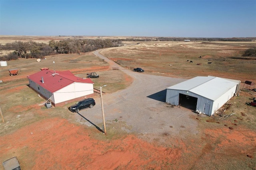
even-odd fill
[{"label": "dense belt of bare trees at left, beyond the red-roofed house", "polygon": [[0,45],[0,50],[14,50],[12,53],[0,57],[0,60],[13,60],[18,58],[39,58],[47,55],[86,53],[97,49],[122,46],[122,42],[110,39],[64,39],[60,41],[50,40],[49,43],[37,43],[34,41],[15,41]]}]

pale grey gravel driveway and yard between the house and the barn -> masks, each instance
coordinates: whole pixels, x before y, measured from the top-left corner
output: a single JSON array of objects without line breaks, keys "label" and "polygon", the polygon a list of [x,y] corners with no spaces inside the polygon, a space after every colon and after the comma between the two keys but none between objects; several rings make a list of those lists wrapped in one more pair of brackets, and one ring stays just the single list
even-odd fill
[{"label": "pale grey gravel driveway and yard between the house and the barn", "polygon": [[[197,133],[196,119],[190,118],[190,115],[195,113],[183,107],[170,107],[165,103],[166,88],[186,79],[134,72],[100,55],[99,51],[94,54],[105,59],[112,67],[118,66],[121,71],[134,78],[134,82],[128,88],[103,95],[106,129],[109,121],[118,120],[126,122],[131,127],[129,130],[125,129],[128,132],[140,134],[178,135],[181,130]],[[78,121],[84,117],[85,121],[80,122],[88,126],[100,125],[103,122],[100,97],[94,99],[96,105],[92,109],[81,110],[76,115]],[[99,128],[102,129],[102,126]]]}]

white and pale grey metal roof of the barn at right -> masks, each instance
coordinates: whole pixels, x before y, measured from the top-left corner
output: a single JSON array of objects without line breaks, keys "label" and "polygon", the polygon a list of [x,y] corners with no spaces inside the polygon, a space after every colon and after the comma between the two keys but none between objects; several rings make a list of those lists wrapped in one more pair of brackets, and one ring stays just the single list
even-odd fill
[{"label": "white and pale grey metal roof of the barn at right", "polygon": [[198,94],[210,100],[217,100],[225,92],[236,86],[236,82],[214,77],[214,76],[197,76],[186,80],[167,89],[186,90],[194,94]]}]

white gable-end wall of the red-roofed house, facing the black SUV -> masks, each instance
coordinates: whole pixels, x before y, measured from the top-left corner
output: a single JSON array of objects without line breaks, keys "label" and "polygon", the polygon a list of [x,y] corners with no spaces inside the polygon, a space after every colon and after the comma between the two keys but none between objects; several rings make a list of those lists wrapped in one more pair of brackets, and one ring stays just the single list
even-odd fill
[{"label": "white gable-end wall of the red-roofed house, facing the black SUV", "polygon": [[89,94],[93,94],[93,84],[75,82],[54,92],[54,100],[58,104]]}]

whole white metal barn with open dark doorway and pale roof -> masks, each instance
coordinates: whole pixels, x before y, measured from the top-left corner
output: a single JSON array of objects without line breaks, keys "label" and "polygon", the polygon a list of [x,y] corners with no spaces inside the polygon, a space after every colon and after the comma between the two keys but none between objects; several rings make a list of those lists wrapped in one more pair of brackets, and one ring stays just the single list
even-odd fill
[{"label": "whole white metal barn with open dark doorway and pale roof", "polygon": [[197,76],[166,88],[166,103],[213,115],[240,90],[240,80]]}]

